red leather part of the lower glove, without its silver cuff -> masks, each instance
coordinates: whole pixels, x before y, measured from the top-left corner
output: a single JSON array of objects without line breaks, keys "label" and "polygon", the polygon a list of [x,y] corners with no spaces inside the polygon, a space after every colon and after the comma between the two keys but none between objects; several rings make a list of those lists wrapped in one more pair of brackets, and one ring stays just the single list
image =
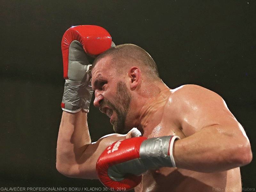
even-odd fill
[{"label": "red leather part of the lower glove, without its silver cuff", "polygon": [[108,174],[108,168],[115,164],[138,159],[140,157],[140,145],[146,139],[145,137],[134,137],[120,140],[105,149],[96,165],[98,177],[103,185],[113,191],[118,189],[126,191],[136,187],[141,182],[142,176],[134,174],[125,174],[125,178],[123,174],[119,178],[111,178]]}]

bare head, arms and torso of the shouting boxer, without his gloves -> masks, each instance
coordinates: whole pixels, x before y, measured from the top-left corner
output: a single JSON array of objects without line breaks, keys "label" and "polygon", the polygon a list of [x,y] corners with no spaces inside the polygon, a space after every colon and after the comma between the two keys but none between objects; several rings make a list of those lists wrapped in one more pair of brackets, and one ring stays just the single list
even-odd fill
[{"label": "bare head, arms and torso of the shouting boxer, without his gloves", "polygon": [[80,111],[63,108],[56,163],[60,173],[99,179],[96,163],[102,152],[118,140],[139,136],[139,131],[148,139],[180,139],[170,154],[176,167],[143,172],[136,192],[242,191],[239,167],[252,161],[250,142],[217,93],[197,85],[168,88],[150,55],[132,44],[112,47],[94,60],[92,88],[94,106],[110,117],[116,134],[92,143],[86,122],[89,105]]}]

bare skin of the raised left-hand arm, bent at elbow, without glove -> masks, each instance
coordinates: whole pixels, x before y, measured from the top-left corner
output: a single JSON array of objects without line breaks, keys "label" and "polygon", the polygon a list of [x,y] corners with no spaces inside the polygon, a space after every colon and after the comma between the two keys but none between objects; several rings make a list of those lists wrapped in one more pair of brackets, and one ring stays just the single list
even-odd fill
[{"label": "bare skin of the raised left-hand arm, bent at elbow, without glove", "polygon": [[91,143],[87,125],[87,113],[72,114],[63,111],[57,141],[57,170],[68,176],[97,179],[95,167],[100,154],[113,142],[125,139],[125,135],[110,134]]}]

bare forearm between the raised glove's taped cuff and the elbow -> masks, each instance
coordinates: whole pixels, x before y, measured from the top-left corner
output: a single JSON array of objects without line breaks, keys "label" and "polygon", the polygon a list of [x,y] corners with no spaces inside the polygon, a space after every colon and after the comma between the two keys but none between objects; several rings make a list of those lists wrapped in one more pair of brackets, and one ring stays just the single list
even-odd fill
[{"label": "bare forearm between the raised glove's taped cuff and the elbow", "polygon": [[91,143],[86,119],[87,113],[83,111],[75,114],[63,111],[57,141],[58,170],[78,164],[83,152]]}]

